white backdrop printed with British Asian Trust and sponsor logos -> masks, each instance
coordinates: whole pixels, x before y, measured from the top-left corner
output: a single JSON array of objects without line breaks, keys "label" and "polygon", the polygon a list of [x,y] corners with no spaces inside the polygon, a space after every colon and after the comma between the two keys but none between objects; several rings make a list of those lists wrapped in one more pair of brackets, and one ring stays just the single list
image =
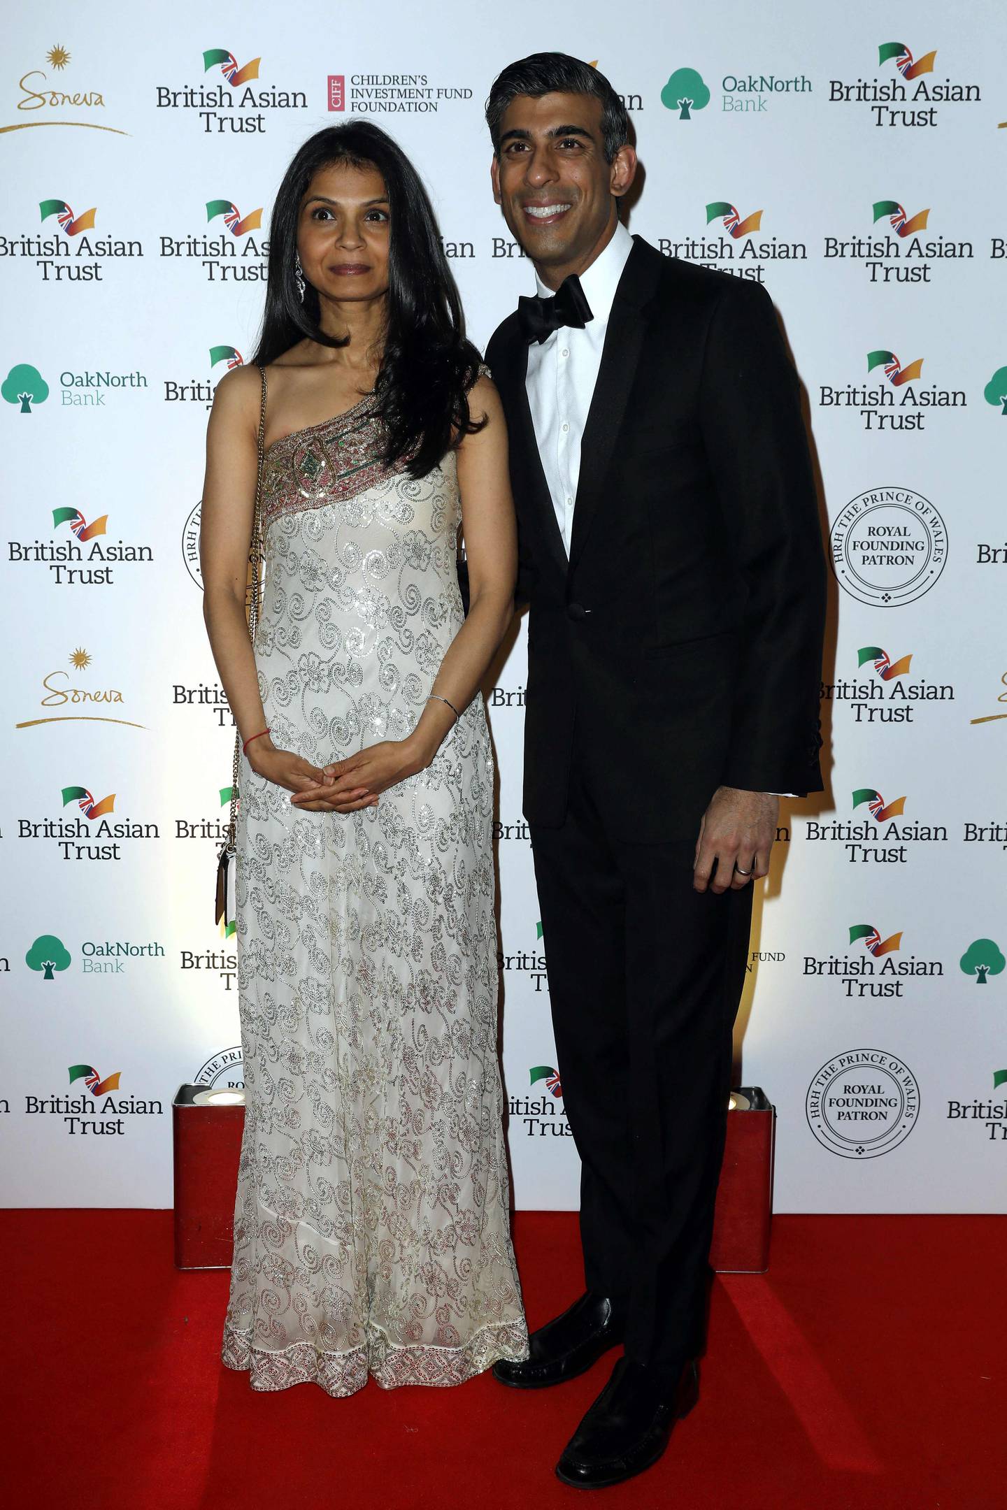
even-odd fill
[{"label": "white backdrop printed with British Asian Trust and sponsor logos", "polygon": [[[44,0],[5,32],[6,1200],[171,1205],[174,1090],[242,1081],[234,939],[211,923],[233,723],[196,542],[207,411],[254,349],[284,168],[352,115],[390,130],[485,346],[531,269],[491,198],[482,106],[504,63],[554,47],[625,97],[646,168],[631,230],[765,284],[808,394],[827,793],[785,805],[738,1022],[740,1080],[779,1110],[776,1206],[996,1210],[1002,5]],[[519,1206],[569,1208],[524,681],[518,634],[488,696],[510,1152]]]}]

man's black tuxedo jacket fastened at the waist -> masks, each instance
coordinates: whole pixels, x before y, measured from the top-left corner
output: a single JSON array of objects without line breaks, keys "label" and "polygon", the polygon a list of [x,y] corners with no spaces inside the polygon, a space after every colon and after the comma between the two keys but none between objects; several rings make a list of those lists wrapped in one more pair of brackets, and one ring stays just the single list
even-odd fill
[{"label": "man's black tuxedo jacket fastened at the waist", "polygon": [[722,784],[818,791],[824,559],[797,374],[767,293],[634,237],[583,435],[569,562],[516,314],[486,359],[530,604],[528,821],[563,823],[575,738],[608,815],[640,843],[694,838]]}]

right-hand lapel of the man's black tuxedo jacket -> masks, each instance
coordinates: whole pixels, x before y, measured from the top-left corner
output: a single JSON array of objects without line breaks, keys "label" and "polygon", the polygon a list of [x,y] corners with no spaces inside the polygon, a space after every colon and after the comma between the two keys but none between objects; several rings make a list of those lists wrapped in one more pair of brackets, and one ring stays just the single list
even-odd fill
[{"label": "right-hand lapel of the man's black tuxedo jacket", "polygon": [[571,566],[577,563],[584,550],[587,532],[604,498],[608,465],[630,400],[630,390],[633,388],[640,347],[643,346],[646,332],[645,310],[657,290],[660,278],[661,264],[654,255],[648,255],[651,248],[646,243],[640,243],[636,237],[634,243],[611,305],[598,381],[581,438],[580,479],[577,483],[574,533],[569,554]]}]

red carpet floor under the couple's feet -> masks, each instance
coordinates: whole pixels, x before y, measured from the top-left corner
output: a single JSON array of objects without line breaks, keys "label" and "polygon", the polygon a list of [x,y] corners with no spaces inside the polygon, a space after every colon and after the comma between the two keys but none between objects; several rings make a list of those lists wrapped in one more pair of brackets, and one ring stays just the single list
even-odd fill
[{"label": "red carpet floor under the couple's feet", "polygon": [[[168,1211],[6,1211],[9,1505],[236,1510],[1001,1510],[1004,1223],[778,1217],[725,1277],[699,1407],[642,1478],[553,1475],[614,1354],[559,1389],[482,1376],[350,1400],[219,1364],[226,1273],[172,1268]],[[575,1219],[518,1216],[534,1326],[580,1288]]]}]

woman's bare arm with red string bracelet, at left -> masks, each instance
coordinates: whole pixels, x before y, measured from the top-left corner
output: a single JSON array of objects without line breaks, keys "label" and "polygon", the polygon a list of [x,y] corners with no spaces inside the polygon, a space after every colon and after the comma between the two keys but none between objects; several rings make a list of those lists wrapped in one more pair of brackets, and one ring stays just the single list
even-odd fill
[{"label": "woman's bare arm with red string bracelet, at left", "polygon": [[[199,524],[202,616],[242,741],[267,723],[245,612],[258,474],[260,396],[257,367],[239,367],[217,384],[207,429]],[[249,744],[248,758],[254,770],[291,791],[325,779],[319,767],[290,750],[278,750],[269,734]]]}]

